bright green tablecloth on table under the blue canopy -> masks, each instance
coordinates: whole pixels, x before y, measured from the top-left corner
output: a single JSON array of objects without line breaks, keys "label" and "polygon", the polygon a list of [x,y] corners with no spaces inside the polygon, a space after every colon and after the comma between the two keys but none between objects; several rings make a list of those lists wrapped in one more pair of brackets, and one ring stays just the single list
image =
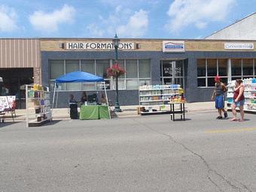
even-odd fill
[{"label": "bright green tablecloth on table under the blue canopy", "polygon": [[109,119],[107,105],[81,105],[81,120]]}]

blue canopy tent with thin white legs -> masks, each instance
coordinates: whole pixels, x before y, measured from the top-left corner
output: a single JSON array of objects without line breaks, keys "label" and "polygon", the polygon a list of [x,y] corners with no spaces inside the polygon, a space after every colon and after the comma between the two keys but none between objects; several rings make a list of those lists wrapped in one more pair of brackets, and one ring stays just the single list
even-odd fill
[{"label": "blue canopy tent with thin white legs", "polygon": [[[67,73],[66,75],[61,75],[59,76],[59,78],[56,78],[55,84],[54,84],[54,93],[53,93],[53,106],[54,106],[54,100],[55,100],[55,93],[56,93],[56,84],[60,84],[60,83],[76,83],[76,82],[103,82],[104,84],[104,90],[105,90],[105,96],[106,96],[106,100],[107,100],[107,105],[108,105],[108,95],[107,95],[107,91],[105,89],[105,81],[104,78],[101,78],[99,76],[87,73],[87,72],[70,72]],[[56,105],[57,105],[57,101],[58,101],[58,92],[57,92],[57,96],[56,96]],[[109,111],[108,111],[109,113]],[[110,114],[109,114],[109,117]]]}]

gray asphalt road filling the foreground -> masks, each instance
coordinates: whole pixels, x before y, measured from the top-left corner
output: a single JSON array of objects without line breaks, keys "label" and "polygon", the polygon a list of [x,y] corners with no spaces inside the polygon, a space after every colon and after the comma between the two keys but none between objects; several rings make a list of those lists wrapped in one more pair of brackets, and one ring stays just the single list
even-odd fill
[{"label": "gray asphalt road filling the foreground", "polygon": [[0,123],[0,191],[256,191],[256,115]]}]

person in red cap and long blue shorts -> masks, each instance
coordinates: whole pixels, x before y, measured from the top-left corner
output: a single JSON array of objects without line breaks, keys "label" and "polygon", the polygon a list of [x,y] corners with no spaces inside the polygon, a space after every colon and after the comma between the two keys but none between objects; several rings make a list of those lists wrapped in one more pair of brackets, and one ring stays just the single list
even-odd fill
[{"label": "person in red cap and long blue shorts", "polygon": [[218,109],[217,119],[222,119],[221,111],[224,112],[224,118],[227,118],[227,111],[224,109],[224,93],[227,91],[227,87],[221,82],[219,76],[215,76],[215,90],[212,93],[212,101],[215,97],[215,108]]}]

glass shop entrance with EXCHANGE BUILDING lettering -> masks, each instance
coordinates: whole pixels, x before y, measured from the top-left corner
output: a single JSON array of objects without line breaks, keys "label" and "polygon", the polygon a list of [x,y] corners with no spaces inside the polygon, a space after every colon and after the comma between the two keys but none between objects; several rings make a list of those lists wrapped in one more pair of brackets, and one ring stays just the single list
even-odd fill
[{"label": "glass shop entrance with EXCHANGE BUILDING lettering", "polygon": [[184,88],[184,59],[161,60],[161,83],[180,84]]}]

